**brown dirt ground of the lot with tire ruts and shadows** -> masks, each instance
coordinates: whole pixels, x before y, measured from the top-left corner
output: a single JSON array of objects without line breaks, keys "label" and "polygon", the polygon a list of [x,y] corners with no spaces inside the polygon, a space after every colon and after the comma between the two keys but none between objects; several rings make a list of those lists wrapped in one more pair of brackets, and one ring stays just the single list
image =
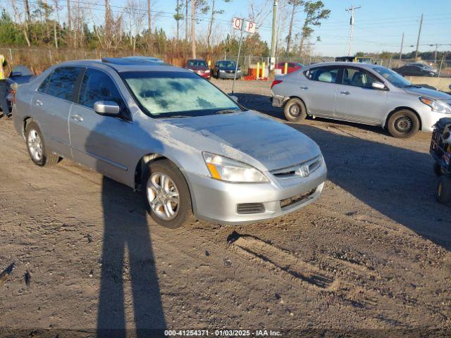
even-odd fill
[{"label": "brown dirt ground of the lot with tire ruts and shadows", "polygon": [[[240,81],[235,94],[282,118],[269,85]],[[128,187],[70,161],[38,168],[2,118],[0,272],[16,267],[0,282],[0,327],[450,329],[450,206],[435,201],[431,134],[290,125],[326,158],[316,203],[254,225],[168,230]]]}]

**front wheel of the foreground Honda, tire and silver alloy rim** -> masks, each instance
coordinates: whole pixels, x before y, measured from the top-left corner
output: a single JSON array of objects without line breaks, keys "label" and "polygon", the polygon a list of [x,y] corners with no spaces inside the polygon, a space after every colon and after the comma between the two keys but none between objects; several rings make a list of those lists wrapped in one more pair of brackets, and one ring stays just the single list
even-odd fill
[{"label": "front wheel of the foreground Honda, tire and silver alloy rim", "polygon": [[194,220],[188,184],[180,169],[169,160],[156,160],[147,165],[142,197],[149,215],[163,227],[176,229]]}]

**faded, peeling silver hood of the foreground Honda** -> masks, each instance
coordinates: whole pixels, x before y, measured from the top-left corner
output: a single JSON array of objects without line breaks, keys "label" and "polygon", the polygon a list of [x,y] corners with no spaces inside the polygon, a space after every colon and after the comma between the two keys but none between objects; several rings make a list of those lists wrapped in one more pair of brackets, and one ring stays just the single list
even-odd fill
[{"label": "faded, peeling silver hood of the foreground Honda", "polygon": [[[165,122],[218,142],[224,150],[220,155],[240,160],[244,153],[267,170],[289,167],[321,154],[319,146],[302,132],[252,111]],[[230,151],[233,149],[237,151]]]}]

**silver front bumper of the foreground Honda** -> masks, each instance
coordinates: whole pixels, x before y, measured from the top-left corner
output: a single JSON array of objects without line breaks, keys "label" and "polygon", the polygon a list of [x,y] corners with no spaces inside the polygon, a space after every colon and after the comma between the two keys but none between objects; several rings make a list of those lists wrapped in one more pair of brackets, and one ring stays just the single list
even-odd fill
[{"label": "silver front bumper of the foreground Honda", "polygon": [[[212,223],[239,225],[280,217],[297,211],[319,198],[326,181],[323,163],[308,177],[275,180],[267,183],[229,183],[192,173],[185,173],[193,201],[194,214]],[[283,181],[283,182],[281,182]],[[288,206],[280,202],[293,196],[305,196]],[[262,204],[264,211],[239,213],[239,204]]]}]

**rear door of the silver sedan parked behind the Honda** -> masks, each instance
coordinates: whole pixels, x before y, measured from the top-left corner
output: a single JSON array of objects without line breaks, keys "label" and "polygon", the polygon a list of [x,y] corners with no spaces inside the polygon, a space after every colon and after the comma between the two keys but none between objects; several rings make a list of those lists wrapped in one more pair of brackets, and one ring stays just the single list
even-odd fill
[{"label": "rear door of the silver sedan parked behind the Honda", "polygon": [[297,92],[304,100],[309,115],[332,117],[335,106],[336,82],[339,77],[338,65],[309,68],[299,73]]}]

